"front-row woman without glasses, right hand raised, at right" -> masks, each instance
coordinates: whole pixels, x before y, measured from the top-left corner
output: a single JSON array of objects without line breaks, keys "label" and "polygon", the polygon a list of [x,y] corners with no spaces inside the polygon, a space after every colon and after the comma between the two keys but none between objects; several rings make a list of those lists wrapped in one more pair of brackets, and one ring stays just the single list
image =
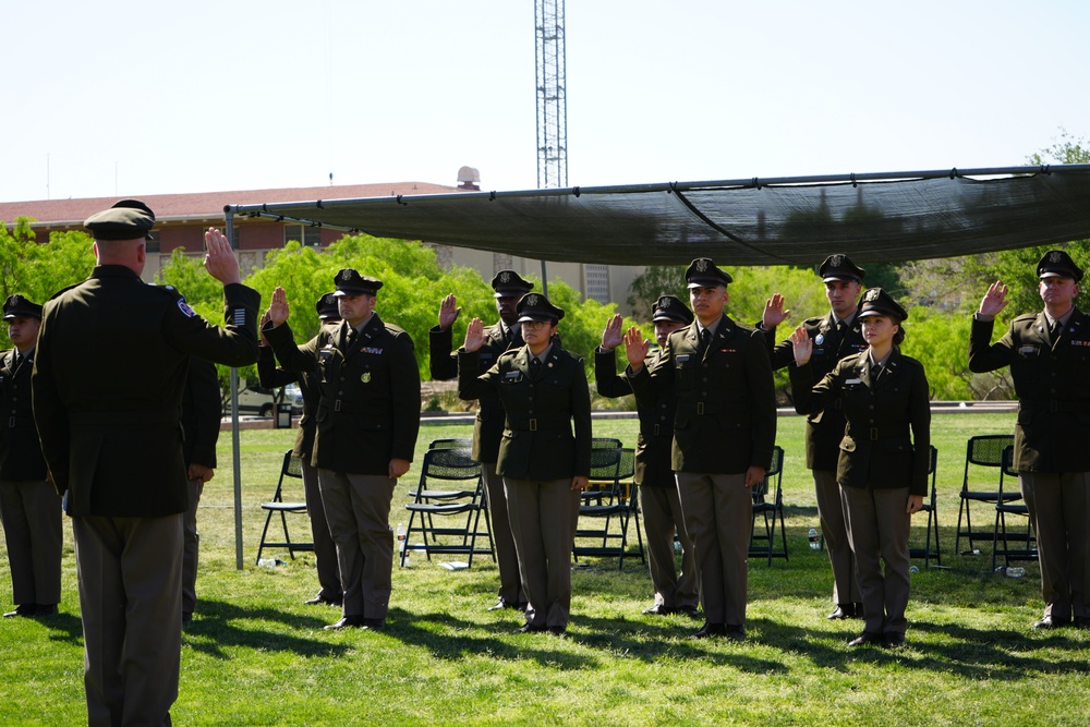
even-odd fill
[{"label": "front-row woman without glasses, right hand raised, at right", "polygon": [[920,362],[900,353],[905,308],[871,288],[858,317],[865,351],[818,379],[810,359],[822,344],[800,326],[790,339],[798,365],[789,372],[796,411],[813,414],[839,401],[847,421],[836,480],[863,604],[863,633],[849,645],[896,647],[908,627],[909,530],[928,493],[931,393]]}]

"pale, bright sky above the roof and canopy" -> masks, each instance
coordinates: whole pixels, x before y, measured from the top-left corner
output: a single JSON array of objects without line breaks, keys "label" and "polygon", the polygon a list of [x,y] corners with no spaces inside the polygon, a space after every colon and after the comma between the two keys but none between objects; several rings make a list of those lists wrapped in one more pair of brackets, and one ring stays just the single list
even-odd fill
[{"label": "pale, bright sky above the roof and canopy", "polygon": [[[536,185],[533,0],[11,4],[0,201]],[[1021,165],[1090,135],[1088,31],[1085,0],[568,0],[568,182]]]}]

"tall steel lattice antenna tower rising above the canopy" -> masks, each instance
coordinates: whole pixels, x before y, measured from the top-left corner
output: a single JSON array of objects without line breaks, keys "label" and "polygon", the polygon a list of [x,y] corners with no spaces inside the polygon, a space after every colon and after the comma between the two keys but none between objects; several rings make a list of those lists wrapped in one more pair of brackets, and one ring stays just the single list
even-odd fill
[{"label": "tall steel lattice antenna tower rising above the canopy", "polygon": [[568,185],[564,0],[534,0],[537,43],[537,189]]}]

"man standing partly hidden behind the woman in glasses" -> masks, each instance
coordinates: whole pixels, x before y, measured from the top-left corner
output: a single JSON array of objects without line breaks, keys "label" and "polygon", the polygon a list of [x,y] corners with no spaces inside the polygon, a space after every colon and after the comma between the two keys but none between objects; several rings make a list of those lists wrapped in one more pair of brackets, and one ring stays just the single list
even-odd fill
[{"label": "man standing partly hidden behind the woman in glasses", "polygon": [[[522,347],[522,326],[517,323],[519,314],[516,305],[519,299],[534,289],[534,283],[523,280],[514,270],[500,270],[492,279],[492,289],[496,291],[499,320],[484,329],[484,344],[479,351],[481,371],[477,374],[492,368],[504,351]],[[432,378],[436,381],[458,376],[458,354],[451,353],[453,344],[450,327],[460,311],[453,294],[447,295],[439,306],[439,325],[428,331]],[[488,610],[513,608],[521,611],[526,609],[526,594],[519,577],[519,558],[514,550],[514,536],[511,534],[504,478],[496,474],[504,421],[504,407],[498,398],[481,400],[473,424],[473,459],[481,462],[488,513],[492,517],[492,541],[496,547],[496,565],[499,567],[499,599]]]}]

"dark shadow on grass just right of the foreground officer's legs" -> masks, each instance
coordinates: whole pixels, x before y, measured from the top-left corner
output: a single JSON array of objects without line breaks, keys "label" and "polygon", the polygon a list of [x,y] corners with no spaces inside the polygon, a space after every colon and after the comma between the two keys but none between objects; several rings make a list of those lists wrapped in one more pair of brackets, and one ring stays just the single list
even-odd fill
[{"label": "dark shadow on grass just right of the foreground officer's legs", "polygon": [[[340,617],[340,611],[337,609],[328,609],[328,616],[318,618],[296,616],[275,608],[241,608],[234,604],[207,598],[202,598],[199,605],[196,618],[183,631],[182,643],[193,651],[215,658],[230,658],[230,654],[223,650],[232,646],[291,652],[300,656],[340,656],[353,649],[351,644],[331,643],[325,639],[272,631],[263,623],[277,621],[300,633],[320,630]],[[247,623],[251,621],[252,623]]]}]

